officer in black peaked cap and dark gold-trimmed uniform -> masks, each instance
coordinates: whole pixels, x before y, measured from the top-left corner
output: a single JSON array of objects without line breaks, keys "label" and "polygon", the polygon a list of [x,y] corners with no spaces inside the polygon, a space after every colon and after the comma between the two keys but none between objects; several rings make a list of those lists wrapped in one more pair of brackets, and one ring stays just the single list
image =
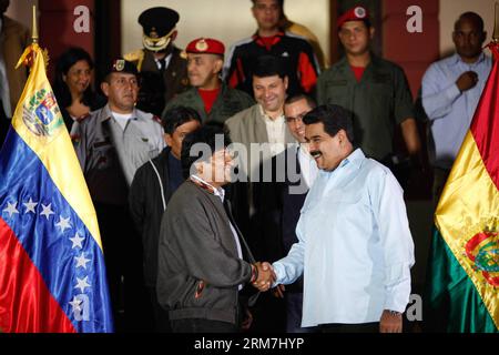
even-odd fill
[{"label": "officer in black peaked cap and dark gold-trimmed uniform", "polygon": [[151,8],[139,17],[143,49],[124,55],[141,73],[138,108],[161,115],[164,105],[189,89],[187,57],[174,45],[179,13],[169,8]]}]

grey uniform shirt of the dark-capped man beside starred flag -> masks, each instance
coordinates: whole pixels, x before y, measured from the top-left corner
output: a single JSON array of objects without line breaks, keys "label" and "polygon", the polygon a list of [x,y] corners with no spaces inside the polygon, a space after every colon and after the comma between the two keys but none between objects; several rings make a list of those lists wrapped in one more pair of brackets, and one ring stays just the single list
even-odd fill
[{"label": "grey uniform shirt of the dark-capped man beside starred flag", "polygon": [[77,155],[98,202],[126,204],[136,169],[165,148],[163,128],[152,114],[135,110],[133,116],[122,130],[105,105],[80,122]]}]

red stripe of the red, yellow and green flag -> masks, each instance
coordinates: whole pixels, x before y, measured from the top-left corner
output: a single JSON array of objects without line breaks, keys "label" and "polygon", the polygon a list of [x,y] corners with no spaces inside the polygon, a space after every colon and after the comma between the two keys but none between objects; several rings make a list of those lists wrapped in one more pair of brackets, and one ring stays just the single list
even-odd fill
[{"label": "red stripe of the red, yellow and green flag", "polygon": [[475,113],[471,133],[481,159],[499,190],[499,69],[493,63],[489,80]]}]

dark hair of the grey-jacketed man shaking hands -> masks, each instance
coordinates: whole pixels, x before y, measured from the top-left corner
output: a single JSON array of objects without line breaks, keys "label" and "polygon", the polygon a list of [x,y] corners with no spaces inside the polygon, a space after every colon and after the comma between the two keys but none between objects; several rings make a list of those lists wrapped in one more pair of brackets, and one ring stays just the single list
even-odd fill
[{"label": "dark hair of the grey-jacketed man shaking hands", "polygon": [[206,144],[210,148],[212,154],[216,152],[216,149],[221,149],[222,146],[216,145],[217,138],[218,140],[223,138],[223,148],[227,148],[232,142],[228,136],[228,132],[221,126],[217,125],[203,125],[201,129],[189,133],[184,140],[182,141],[182,172],[185,179],[190,176],[191,166],[200,159],[207,160],[212,155],[206,156],[203,154],[204,152],[201,150],[200,152],[193,152],[191,154],[191,150],[195,144]]}]

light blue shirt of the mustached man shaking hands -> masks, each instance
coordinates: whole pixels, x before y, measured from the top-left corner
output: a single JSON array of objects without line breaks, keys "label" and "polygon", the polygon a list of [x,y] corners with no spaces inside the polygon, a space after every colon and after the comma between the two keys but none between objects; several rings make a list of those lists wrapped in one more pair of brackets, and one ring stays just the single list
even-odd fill
[{"label": "light blue shirt of the mustached man shaking hands", "polygon": [[302,326],[379,322],[384,310],[405,311],[414,243],[403,190],[360,149],[319,172],[296,234],[273,266],[276,284],[304,274]]}]

